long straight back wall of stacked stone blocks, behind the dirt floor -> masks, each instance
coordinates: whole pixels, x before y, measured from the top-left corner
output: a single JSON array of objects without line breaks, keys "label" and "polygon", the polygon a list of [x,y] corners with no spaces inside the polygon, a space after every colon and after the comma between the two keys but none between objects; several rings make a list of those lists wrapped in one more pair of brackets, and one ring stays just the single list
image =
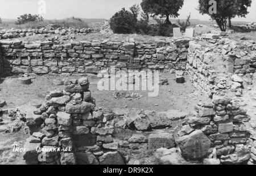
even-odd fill
[{"label": "long straight back wall of stacked stone blocks, behind the dirt floor", "polygon": [[188,39],[135,43],[124,41],[2,40],[5,74],[94,73],[109,66],[118,69],[184,70]]}]

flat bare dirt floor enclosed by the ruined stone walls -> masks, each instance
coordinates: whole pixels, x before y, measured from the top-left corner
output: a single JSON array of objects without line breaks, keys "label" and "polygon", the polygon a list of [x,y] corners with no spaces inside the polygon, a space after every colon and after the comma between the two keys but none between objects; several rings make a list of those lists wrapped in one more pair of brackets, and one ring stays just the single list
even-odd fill
[{"label": "flat bare dirt floor enclosed by the ruined stone walls", "polygon": [[[63,89],[64,85],[54,85],[53,82],[64,78],[80,78],[80,76],[36,76],[32,79],[31,85],[21,85],[18,77],[7,77],[0,83],[0,97],[5,99],[7,105],[4,108],[15,108],[23,104],[39,104],[44,101],[44,97],[51,90]],[[147,91],[125,91],[125,93],[138,93],[142,95],[139,99],[114,98],[115,91],[100,91],[97,83],[100,78],[89,76],[90,91],[96,99],[98,107],[127,107],[142,108],[144,110],[166,111],[170,109],[182,110],[185,112],[193,111],[193,106],[201,100],[208,99],[206,95],[197,91],[193,87],[189,78],[185,76],[186,82],[178,84],[175,81],[175,74],[162,73],[160,79],[168,78],[169,85],[159,86],[157,97],[148,97]],[[121,91],[123,92],[123,91]]]}]

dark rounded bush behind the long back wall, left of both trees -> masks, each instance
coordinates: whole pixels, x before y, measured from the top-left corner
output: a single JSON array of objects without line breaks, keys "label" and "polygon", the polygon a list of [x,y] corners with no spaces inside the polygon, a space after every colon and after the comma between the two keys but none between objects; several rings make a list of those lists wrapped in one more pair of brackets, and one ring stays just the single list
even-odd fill
[{"label": "dark rounded bush behind the long back wall, left of both trees", "polygon": [[114,33],[133,33],[135,31],[136,21],[134,15],[123,8],[110,19],[110,28]]}]

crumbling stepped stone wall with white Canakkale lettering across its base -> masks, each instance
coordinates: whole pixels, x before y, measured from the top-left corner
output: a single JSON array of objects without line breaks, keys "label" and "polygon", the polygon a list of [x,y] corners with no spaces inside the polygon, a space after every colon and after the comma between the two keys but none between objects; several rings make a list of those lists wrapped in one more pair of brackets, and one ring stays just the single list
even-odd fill
[{"label": "crumbling stepped stone wall with white Canakkale lettering across its base", "polygon": [[113,141],[113,114],[94,109],[88,79],[65,82],[46,102],[27,114],[31,137],[23,153],[27,164],[124,164]]}]

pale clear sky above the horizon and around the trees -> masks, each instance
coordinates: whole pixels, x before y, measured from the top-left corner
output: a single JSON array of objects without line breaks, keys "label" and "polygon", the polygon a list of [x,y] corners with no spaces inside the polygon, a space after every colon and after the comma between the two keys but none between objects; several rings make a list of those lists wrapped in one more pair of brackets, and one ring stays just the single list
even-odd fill
[{"label": "pale clear sky above the horizon and around the trees", "polygon": [[[22,14],[40,14],[44,19],[77,18],[110,19],[115,12],[125,7],[129,9],[142,0],[0,0],[0,18],[16,19]],[[45,13],[42,2],[46,3]],[[184,0],[177,19],[185,19],[191,12],[191,19],[209,20],[208,15],[201,15],[196,10],[198,0]],[[256,22],[256,0],[253,0],[246,18],[235,18],[236,21]]]}]

